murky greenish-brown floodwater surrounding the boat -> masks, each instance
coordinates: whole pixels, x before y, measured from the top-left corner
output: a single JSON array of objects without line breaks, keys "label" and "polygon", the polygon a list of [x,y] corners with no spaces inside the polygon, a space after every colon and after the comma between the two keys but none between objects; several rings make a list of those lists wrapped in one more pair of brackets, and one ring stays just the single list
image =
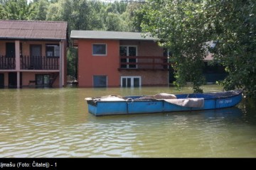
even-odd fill
[{"label": "murky greenish-brown floodwater surrounding the boat", "polygon": [[243,98],[237,107],[215,111],[102,117],[88,113],[84,100],[190,92],[189,87],[0,89],[0,157],[256,157],[256,100]]}]

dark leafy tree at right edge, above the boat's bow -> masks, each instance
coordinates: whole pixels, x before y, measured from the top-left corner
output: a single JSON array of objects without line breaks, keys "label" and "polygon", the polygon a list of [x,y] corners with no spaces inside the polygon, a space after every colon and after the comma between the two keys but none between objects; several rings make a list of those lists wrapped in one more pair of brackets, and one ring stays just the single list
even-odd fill
[{"label": "dark leafy tree at right edge, above the boat's bow", "polygon": [[213,7],[218,15],[209,11],[208,16],[215,22],[213,38],[219,40],[215,60],[229,73],[220,84],[227,90],[242,88],[247,96],[256,96],[255,1],[218,1]]}]

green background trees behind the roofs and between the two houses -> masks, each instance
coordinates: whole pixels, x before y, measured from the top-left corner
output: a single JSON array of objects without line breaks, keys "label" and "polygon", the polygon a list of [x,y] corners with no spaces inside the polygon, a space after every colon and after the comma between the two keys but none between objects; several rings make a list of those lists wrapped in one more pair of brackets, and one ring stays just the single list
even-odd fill
[{"label": "green background trees behind the roofs and between the two houses", "polygon": [[[71,30],[137,30],[132,25],[137,3],[92,0],[0,0],[0,19],[67,21]],[[71,41],[69,41],[71,42]],[[68,51],[68,74],[77,77],[78,55]]]}]

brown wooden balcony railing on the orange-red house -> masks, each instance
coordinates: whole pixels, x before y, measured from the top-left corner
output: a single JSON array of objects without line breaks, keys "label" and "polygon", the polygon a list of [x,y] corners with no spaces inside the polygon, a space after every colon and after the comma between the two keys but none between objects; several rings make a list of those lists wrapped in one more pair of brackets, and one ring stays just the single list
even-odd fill
[{"label": "brown wooden balcony railing on the orange-red house", "polygon": [[119,69],[159,69],[168,70],[167,57],[120,56]]}]

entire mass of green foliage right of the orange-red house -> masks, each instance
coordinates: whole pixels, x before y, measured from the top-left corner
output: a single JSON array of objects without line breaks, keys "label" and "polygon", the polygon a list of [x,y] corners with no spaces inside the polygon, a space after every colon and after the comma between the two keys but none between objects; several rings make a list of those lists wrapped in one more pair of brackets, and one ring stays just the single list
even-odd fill
[{"label": "entire mass of green foliage right of the orange-red house", "polygon": [[[202,91],[203,59],[210,50],[229,73],[224,88],[256,96],[254,0],[149,0],[136,14],[137,27],[171,51],[177,85],[191,81],[194,92]],[[205,43],[210,40],[218,40],[214,49]]]}]

